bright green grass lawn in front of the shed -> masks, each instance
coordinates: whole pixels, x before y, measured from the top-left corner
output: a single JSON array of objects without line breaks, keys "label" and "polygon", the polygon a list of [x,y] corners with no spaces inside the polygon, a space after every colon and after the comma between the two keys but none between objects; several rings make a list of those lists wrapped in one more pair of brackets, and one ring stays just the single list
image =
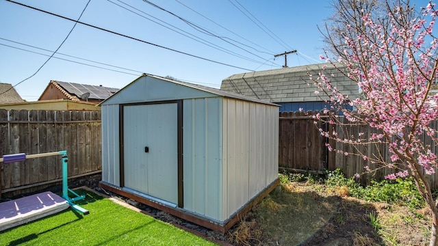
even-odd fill
[{"label": "bright green grass lawn in front of the shed", "polygon": [[68,208],[0,232],[0,245],[214,245],[95,193],[77,193],[86,195],[77,204],[89,210],[89,215]]}]

